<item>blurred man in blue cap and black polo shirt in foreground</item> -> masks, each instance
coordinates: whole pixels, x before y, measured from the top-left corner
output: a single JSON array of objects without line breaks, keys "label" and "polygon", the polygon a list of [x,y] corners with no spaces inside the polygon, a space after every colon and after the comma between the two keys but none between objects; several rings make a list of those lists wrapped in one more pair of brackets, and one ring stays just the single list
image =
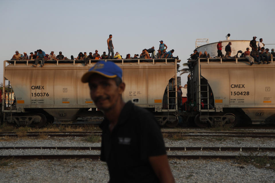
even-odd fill
[{"label": "blurred man in blue cap and black polo shirt in foreground", "polygon": [[107,162],[109,182],[174,182],[156,119],[122,99],[121,68],[98,61],[81,81],[89,83],[91,98],[105,116],[100,159]]}]

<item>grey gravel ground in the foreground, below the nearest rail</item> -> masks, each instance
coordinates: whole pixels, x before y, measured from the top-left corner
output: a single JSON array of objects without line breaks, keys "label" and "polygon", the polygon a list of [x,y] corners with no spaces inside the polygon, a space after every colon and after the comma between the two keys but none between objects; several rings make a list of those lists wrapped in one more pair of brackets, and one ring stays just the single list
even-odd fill
[{"label": "grey gravel ground in the foreground, below the nearest rail", "polygon": [[[275,182],[275,171],[232,160],[169,160],[176,182]],[[0,182],[107,182],[105,162],[90,159],[12,160]]]}]

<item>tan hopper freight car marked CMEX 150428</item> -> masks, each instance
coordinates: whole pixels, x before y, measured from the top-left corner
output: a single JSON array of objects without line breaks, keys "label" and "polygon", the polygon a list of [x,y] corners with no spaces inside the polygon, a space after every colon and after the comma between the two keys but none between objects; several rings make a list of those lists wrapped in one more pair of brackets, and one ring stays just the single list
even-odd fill
[{"label": "tan hopper freight car marked CMEX 150428", "polygon": [[275,124],[275,63],[250,65],[246,58],[189,60],[188,98],[200,127],[246,121]]}]

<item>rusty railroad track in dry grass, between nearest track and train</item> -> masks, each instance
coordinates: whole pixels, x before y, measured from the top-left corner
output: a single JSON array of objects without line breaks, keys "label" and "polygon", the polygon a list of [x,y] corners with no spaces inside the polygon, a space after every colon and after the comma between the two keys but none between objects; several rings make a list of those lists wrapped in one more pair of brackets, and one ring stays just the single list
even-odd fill
[{"label": "rusty railroad track in dry grass, between nearest track and train", "polygon": [[[25,136],[38,137],[46,135],[50,137],[85,137],[89,135],[101,136],[101,131],[84,132],[27,132]],[[275,138],[275,132],[162,132],[163,135],[182,137],[243,137],[243,138]],[[0,137],[17,137],[16,132],[0,132]]]}]

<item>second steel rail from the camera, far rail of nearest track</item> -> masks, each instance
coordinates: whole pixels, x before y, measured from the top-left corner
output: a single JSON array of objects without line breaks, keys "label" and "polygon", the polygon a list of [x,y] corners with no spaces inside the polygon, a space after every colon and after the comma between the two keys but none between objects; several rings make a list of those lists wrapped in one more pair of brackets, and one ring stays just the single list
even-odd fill
[{"label": "second steel rail from the camera, far rail of nearest track", "polygon": [[[56,149],[56,150],[101,150],[101,147],[93,146],[10,146],[0,147],[5,149]],[[166,147],[167,151],[275,151],[275,147]]]}]

